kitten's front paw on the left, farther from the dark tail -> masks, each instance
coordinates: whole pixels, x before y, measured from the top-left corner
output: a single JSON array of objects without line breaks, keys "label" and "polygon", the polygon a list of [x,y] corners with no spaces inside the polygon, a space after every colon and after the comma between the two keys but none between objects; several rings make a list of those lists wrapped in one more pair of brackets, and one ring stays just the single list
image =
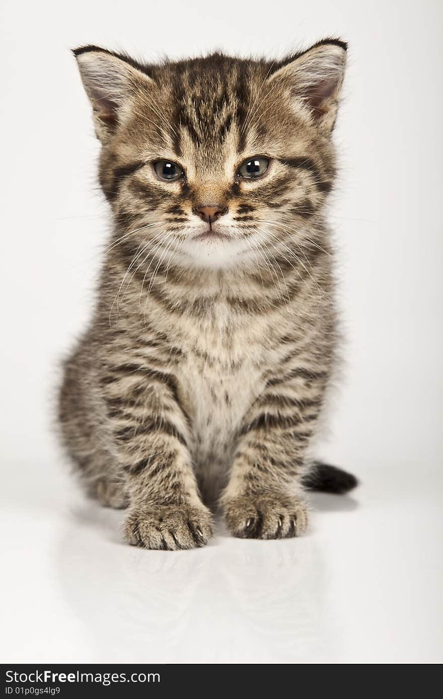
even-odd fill
[{"label": "kitten's front paw on the left, farther from the dark tail", "polygon": [[211,512],[203,505],[143,505],[134,507],[125,524],[129,544],[146,549],[194,549],[213,534]]}]

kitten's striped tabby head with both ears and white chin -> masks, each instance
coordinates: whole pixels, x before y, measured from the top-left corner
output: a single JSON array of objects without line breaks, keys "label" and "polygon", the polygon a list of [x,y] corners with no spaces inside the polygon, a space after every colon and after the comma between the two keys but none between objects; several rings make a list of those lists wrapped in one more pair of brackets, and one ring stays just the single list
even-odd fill
[{"label": "kitten's striped tabby head with both ears and white chin", "polygon": [[74,53],[119,245],[220,268],[312,235],[335,172],[346,44],[327,39],[278,62]]}]

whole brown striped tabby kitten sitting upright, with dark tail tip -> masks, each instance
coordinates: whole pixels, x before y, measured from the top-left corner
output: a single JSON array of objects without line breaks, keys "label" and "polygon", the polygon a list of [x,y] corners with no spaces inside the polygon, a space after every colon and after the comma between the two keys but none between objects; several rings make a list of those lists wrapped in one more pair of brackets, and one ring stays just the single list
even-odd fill
[{"label": "whole brown striped tabby kitten sitting upright, with dark tail tip", "polygon": [[[324,209],[346,44],[283,61],[146,65],[74,51],[114,228],[92,322],[66,361],[64,443],[126,538],[188,549],[307,527],[309,460],[337,335]],[[204,504],[206,503],[206,504]]]}]

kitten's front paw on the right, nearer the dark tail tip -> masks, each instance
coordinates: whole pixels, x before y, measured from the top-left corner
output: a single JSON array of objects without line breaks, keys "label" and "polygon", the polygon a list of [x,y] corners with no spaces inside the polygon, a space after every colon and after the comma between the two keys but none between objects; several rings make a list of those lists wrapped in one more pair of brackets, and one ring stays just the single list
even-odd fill
[{"label": "kitten's front paw on the right, nearer the dark tail tip", "polygon": [[247,495],[225,504],[225,519],[232,535],[243,539],[284,539],[307,529],[304,500],[279,494]]}]

